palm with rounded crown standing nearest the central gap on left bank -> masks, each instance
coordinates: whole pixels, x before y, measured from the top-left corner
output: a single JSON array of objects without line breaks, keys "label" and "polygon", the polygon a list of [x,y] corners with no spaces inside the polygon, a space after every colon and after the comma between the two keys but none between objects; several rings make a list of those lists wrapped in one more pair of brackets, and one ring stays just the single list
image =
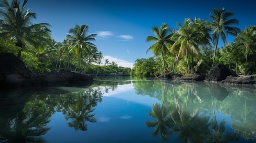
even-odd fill
[{"label": "palm with rounded crown standing nearest the central gap on left bank", "polygon": [[74,71],[78,68],[83,53],[90,55],[92,53],[91,48],[96,47],[96,45],[89,42],[95,41],[95,36],[97,34],[88,35],[88,26],[86,24],[76,25],[68,31],[67,40],[70,42],[70,52],[74,51],[76,55],[79,55],[79,62]]}]

